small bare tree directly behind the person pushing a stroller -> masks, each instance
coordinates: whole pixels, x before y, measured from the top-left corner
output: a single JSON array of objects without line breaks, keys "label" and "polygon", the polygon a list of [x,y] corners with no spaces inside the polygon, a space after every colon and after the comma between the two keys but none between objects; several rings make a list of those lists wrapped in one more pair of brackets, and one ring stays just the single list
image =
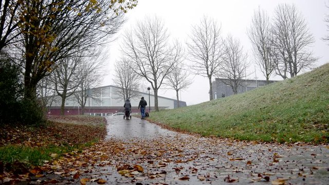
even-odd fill
[{"label": "small bare tree directly behind the person pushing a stroller", "polygon": [[123,101],[139,97],[140,76],[129,67],[129,61],[125,58],[117,61],[115,72],[113,82],[119,87],[114,91],[116,97]]}]

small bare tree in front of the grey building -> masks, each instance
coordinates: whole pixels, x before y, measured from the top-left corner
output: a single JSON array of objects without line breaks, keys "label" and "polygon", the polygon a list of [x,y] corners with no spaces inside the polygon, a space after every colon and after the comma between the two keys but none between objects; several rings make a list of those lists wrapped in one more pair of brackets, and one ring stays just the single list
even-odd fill
[{"label": "small bare tree in front of the grey building", "polygon": [[223,81],[223,83],[231,86],[233,93],[237,94],[237,88],[242,86],[248,64],[246,62],[247,54],[243,52],[240,41],[233,39],[232,35],[228,35],[224,42],[223,60],[224,67],[218,73],[218,76],[228,79],[228,81]]}]

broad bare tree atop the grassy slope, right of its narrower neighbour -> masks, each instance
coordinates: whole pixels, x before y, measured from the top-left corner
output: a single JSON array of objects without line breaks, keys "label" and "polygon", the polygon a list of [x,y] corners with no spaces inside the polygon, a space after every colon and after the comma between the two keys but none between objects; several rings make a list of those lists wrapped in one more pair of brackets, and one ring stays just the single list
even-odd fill
[{"label": "broad bare tree atop the grassy slope, right of its narrower neighbour", "polygon": [[272,25],[273,62],[277,75],[295,77],[314,64],[310,46],[315,42],[295,5],[278,5]]}]

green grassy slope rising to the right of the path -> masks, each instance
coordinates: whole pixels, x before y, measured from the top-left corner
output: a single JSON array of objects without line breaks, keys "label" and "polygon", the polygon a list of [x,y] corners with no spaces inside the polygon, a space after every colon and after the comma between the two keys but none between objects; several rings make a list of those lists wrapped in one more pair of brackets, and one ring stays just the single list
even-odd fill
[{"label": "green grassy slope rising to the right of the path", "polygon": [[203,136],[328,142],[329,64],[244,94],[153,112],[150,120]]}]

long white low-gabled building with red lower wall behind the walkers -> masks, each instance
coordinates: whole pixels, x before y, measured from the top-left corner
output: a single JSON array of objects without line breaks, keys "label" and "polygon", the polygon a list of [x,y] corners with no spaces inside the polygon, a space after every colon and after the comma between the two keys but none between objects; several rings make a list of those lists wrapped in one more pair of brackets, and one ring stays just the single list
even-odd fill
[{"label": "long white low-gabled building with red lower wall behind the walkers", "polygon": [[[90,89],[90,94],[93,98],[88,98],[86,100],[84,113],[90,115],[105,116],[108,113],[124,112],[124,100],[116,97],[114,93],[115,89],[119,87],[108,85],[103,87],[97,87]],[[141,97],[148,102],[146,108],[147,112],[154,110],[154,95],[149,93],[138,92],[140,96],[136,99],[131,99],[132,113],[138,113],[138,104]],[[150,92],[152,93],[152,92]],[[48,115],[60,115],[61,112],[61,97],[57,96],[54,98],[51,106],[49,107]],[[186,102],[179,101],[180,106],[186,106]],[[159,109],[173,109],[177,107],[177,100],[158,96],[158,106]],[[149,110],[150,109],[150,110]],[[77,99],[72,95],[65,100],[65,115],[79,115],[82,114],[81,106],[79,105]]]}]

